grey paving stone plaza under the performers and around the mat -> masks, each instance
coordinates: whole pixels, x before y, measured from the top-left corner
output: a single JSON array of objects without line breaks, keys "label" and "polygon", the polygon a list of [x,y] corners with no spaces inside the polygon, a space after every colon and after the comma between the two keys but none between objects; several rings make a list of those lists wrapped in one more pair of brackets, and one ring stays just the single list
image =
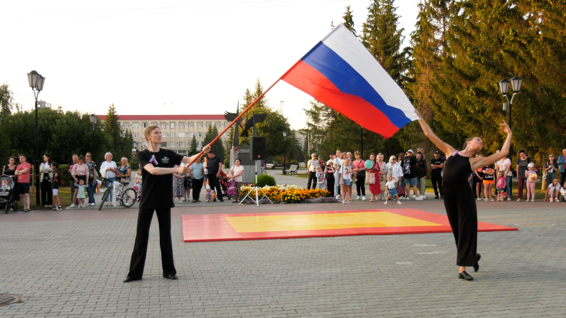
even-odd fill
[{"label": "grey paving stone plaza under the performers and around the mat", "polygon": [[457,278],[451,233],[203,243],[182,239],[182,214],[385,207],[445,214],[441,200],[403,203],[184,204],[172,212],[179,279],[162,278],[154,217],[144,278],[130,283],[122,280],[134,245],[137,209],[2,214],[0,294],[22,295],[24,302],[1,306],[0,316],[566,316],[563,203],[478,202],[479,221],[519,230],[478,234],[481,268],[468,270],[474,281]]}]

